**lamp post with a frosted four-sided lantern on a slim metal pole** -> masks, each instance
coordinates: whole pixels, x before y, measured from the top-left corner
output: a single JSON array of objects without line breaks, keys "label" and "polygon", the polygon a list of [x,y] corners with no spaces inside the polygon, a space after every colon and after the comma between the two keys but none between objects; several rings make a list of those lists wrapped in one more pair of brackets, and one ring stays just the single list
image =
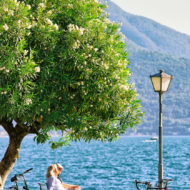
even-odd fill
[{"label": "lamp post with a frosted four-sided lantern on a slim metal pole", "polygon": [[162,140],[162,95],[168,91],[172,76],[160,70],[155,75],[150,75],[155,92],[159,93],[159,165],[158,165],[158,187],[163,188],[163,140]]}]

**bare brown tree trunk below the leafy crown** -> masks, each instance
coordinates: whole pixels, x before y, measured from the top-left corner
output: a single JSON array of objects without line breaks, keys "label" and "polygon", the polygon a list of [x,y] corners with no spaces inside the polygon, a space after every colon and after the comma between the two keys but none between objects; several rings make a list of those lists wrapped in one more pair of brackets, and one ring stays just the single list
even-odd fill
[{"label": "bare brown tree trunk below the leafy crown", "polygon": [[5,181],[19,157],[21,142],[26,135],[26,133],[9,135],[9,145],[0,162],[0,190],[3,190]]}]

